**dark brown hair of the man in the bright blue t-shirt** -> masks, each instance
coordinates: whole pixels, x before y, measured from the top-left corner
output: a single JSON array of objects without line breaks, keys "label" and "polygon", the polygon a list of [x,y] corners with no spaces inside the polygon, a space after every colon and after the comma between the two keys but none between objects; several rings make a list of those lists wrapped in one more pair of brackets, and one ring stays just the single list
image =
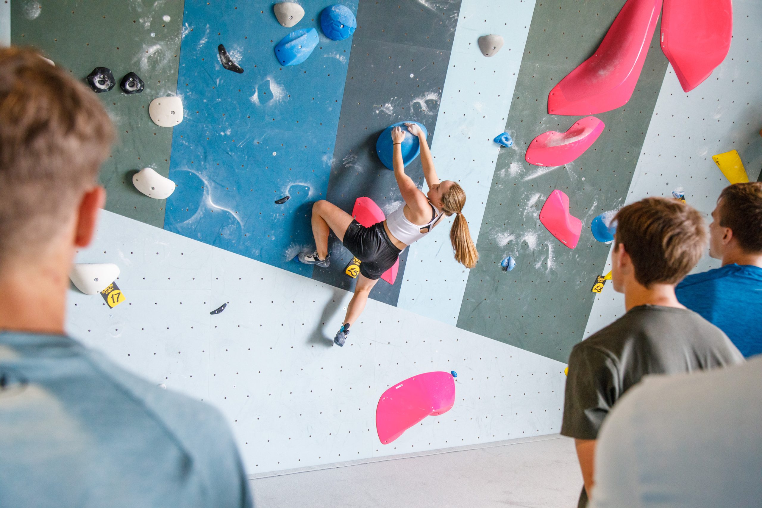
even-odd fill
[{"label": "dark brown hair of the man in the bright blue t-shirt", "polygon": [[762,182],[728,185],[717,202],[719,225],[732,229],[744,251],[762,252]]}]

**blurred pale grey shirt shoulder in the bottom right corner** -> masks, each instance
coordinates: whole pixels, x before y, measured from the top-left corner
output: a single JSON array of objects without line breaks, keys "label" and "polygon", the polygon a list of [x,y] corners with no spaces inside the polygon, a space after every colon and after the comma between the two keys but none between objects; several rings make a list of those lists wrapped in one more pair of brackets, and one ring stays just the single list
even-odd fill
[{"label": "blurred pale grey shirt shoulder in the bottom right corner", "polygon": [[647,376],[598,434],[590,508],[762,506],[762,357]]}]

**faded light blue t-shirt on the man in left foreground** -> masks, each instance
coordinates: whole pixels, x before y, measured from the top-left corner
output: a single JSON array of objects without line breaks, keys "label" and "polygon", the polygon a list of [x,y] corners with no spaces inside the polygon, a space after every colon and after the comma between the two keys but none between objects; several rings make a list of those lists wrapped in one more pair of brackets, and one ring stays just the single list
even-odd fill
[{"label": "faded light blue t-shirt on the man in left foreground", "polygon": [[0,506],[251,505],[212,407],[69,337],[0,332]]}]

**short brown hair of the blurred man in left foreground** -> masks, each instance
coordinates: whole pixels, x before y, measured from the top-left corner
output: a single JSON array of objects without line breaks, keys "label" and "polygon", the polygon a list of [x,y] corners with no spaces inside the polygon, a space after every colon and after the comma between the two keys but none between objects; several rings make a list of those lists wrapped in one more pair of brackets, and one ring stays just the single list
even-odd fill
[{"label": "short brown hair of the blurred man in left foreground", "polygon": [[30,49],[0,49],[0,262],[70,219],[110,152],[101,102]]}]

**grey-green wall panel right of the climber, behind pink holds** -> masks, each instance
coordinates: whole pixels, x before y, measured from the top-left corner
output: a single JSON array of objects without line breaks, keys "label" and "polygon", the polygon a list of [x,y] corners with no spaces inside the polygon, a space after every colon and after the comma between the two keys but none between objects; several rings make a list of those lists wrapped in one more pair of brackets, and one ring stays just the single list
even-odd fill
[{"label": "grey-green wall panel right of the climber, behind pink holds", "polygon": [[[565,361],[582,339],[597,274],[607,245],[594,240],[590,221],[625,200],[648,130],[667,59],[658,27],[636,91],[624,106],[596,115],[606,123],[597,142],[568,165],[542,168],[523,156],[546,130],[568,129],[578,117],[547,113],[548,93],[587,59],[606,34],[622,2],[537,3],[527,37],[506,129],[514,147],[501,150],[479,229],[481,261],[471,270],[458,326],[550,358]],[[539,222],[549,194],[570,196],[571,215],[582,220],[582,236],[571,250]],[[517,267],[503,272],[511,255]]]}]

